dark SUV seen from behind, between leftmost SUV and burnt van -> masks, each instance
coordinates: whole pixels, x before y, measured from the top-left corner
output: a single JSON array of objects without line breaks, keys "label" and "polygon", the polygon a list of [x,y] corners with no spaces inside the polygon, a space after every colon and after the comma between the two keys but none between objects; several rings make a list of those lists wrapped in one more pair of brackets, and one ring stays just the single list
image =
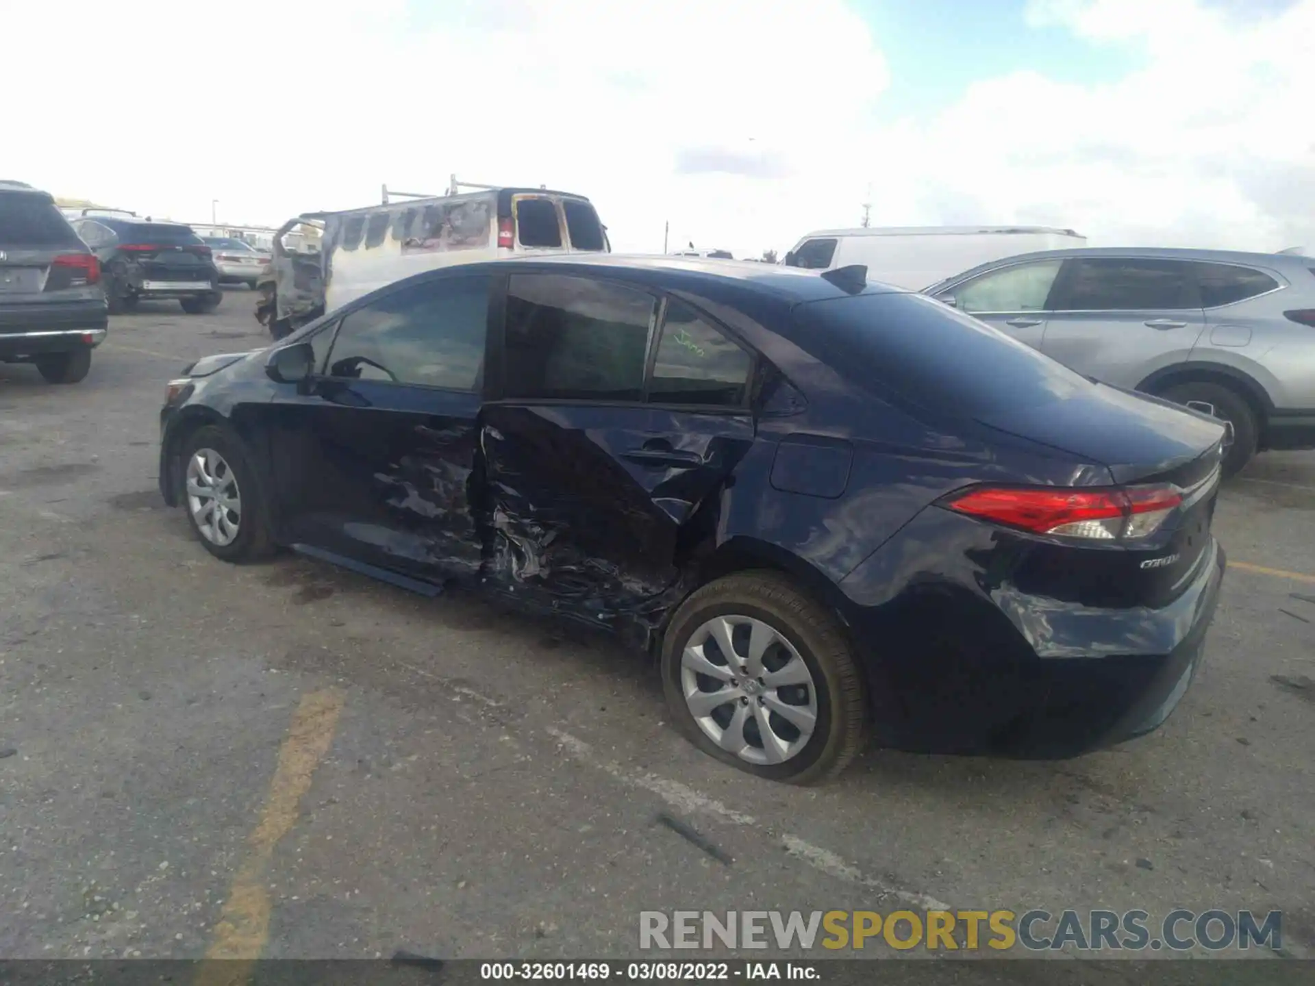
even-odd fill
[{"label": "dark SUV seen from behind, between leftmost SUV and burnt van", "polygon": [[176,298],[188,314],[220,306],[220,272],[189,226],[93,216],[76,220],[74,229],[100,259],[110,314],[129,312],[142,298]]}]

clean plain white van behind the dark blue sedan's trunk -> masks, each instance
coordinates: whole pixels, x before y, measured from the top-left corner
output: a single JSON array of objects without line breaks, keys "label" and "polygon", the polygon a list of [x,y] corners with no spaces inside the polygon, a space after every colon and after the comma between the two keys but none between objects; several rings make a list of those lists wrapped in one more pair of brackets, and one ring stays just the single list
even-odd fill
[{"label": "clean plain white van behind the dark blue sedan's trunk", "polygon": [[1086,237],[1045,226],[834,229],[803,237],[785,255],[785,264],[817,271],[863,264],[868,280],[922,291],[990,260],[1082,246]]}]

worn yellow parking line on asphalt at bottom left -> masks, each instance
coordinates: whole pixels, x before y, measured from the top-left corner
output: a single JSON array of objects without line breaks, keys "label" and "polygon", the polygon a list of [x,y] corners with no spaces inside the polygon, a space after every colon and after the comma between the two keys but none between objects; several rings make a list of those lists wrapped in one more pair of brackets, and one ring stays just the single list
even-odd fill
[{"label": "worn yellow parking line on asphalt at bottom left", "polygon": [[220,920],[214,926],[206,961],[197,986],[239,986],[251,977],[251,966],[270,936],[270,895],[266,873],[274,847],[297,820],[301,798],[310,789],[316,768],[329,751],[343,695],[337,689],[314,692],[301,699],[292,726],[279,749],[279,766],[270,782],[260,822],[247,837],[247,856],[233,878]]}]

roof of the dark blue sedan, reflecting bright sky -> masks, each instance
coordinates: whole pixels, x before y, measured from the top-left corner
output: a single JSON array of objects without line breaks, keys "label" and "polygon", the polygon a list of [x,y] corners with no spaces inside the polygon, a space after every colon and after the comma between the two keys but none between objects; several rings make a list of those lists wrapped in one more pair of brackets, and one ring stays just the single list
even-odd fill
[{"label": "roof of the dark blue sedan, reflecting bright sky", "polygon": [[[598,275],[611,273],[621,279],[640,283],[660,284],[665,288],[682,287],[697,291],[700,284],[732,284],[747,292],[769,294],[786,302],[826,301],[828,298],[849,297],[852,292],[843,289],[822,276],[822,271],[809,271],[798,267],[778,267],[753,260],[718,260],[702,256],[672,256],[665,254],[548,254],[542,256],[517,256],[504,260],[489,260],[481,264],[458,264],[439,268],[462,271],[472,267],[485,267],[492,271],[506,271],[510,267],[522,270],[563,268],[563,273]],[[423,275],[422,275],[423,276]],[[905,293],[888,284],[868,281],[861,293]]]}]

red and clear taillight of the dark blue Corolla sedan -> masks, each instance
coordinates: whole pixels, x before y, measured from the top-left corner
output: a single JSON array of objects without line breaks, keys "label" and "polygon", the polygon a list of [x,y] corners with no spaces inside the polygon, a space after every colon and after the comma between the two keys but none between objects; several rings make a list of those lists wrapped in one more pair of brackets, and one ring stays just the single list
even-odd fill
[{"label": "red and clear taillight of the dark blue Corolla sedan", "polygon": [[947,506],[1035,534],[1124,540],[1155,534],[1182,502],[1176,486],[1127,489],[1001,489],[977,486]]}]

